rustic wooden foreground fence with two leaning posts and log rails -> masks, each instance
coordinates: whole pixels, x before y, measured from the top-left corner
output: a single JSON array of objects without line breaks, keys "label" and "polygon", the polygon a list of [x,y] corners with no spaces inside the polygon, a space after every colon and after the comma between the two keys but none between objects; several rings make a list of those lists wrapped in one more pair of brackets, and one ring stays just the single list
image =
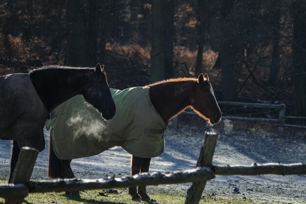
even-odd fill
[{"label": "rustic wooden foreground fence with two leaning posts and log rails", "polygon": [[198,204],[207,180],[219,175],[306,175],[306,164],[256,164],[252,166],[218,166],[212,165],[212,158],[217,144],[218,135],[205,133],[203,145],[197,160],[197,167],[184,171],[168,173],[141,173],[120,178],[107,177],[95,180],[40,180],[29,181],[38,151],[23,147],[16,165],[12,183],[0,184],[0,197],[5,204],[21,204],[29,193],[80,191],[101,188],[119,188],[128,186],[144,186],[193,182],[187,191],[185,204]]}]

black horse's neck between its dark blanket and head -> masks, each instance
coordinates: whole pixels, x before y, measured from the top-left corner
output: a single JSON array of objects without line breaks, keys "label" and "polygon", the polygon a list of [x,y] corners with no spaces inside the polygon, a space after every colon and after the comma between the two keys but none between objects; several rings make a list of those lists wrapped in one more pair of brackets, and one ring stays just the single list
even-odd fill
[{"label": "black horse's neck between its dark blanket and head", "polygon": [[48,112],[69,98],[82,94],[88,69],[55,68],[30,73],[32,83]]}]

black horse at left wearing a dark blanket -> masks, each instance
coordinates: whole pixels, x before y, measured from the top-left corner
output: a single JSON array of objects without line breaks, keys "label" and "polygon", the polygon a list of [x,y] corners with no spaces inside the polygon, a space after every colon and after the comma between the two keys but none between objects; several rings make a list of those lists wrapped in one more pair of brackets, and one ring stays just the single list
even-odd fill
[{"label": "black horse at left wearing a dark blanket", "polygon": [[44,150],[43,128],[49,113],[67,99],[82,94],[105,119],[115,114],[104,66],[73,68],[46,66],[0,76],[0,139],[13,140],[10,176],[20,149]]}]

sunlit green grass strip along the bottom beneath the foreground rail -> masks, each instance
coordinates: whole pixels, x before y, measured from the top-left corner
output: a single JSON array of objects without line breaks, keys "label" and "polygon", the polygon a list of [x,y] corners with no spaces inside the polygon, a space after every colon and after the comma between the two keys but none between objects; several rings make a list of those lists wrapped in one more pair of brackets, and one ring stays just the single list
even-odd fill
[{"label": "sunlit green grass strip along the bottom beneath the foreground rail", "polygon": [[[7,180],[1,178],[0,183],[6,183]],[[205,193],[204,193],[205,194]],[[155,201],[131,201],[131,196],[127,189],[99,189],[86,190],[80,192],[80,196],[69,195],[65,192],[51,193],[30,193],[23,201],[23,204],[184,204],[186,197],[177,195],[165,190],[155,190],[155,193],[149,192],[151,199]],[[0,198],[0,203],[4,199]],[[254,200],[241,195],[218,194],[215,196],[205,196],[199,204],[287,204],[287,202],[275,202],[273,200]]]}]

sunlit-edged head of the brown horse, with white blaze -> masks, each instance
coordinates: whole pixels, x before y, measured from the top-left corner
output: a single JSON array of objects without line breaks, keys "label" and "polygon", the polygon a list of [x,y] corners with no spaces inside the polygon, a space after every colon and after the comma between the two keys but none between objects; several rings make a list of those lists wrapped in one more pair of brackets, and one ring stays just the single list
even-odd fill
[{"label": "sunlit-edged head of the brown horse, with white blaze", "polygon": [[194,111],[210,124],[219,123],[221,111],[217,103],[208,75],[202,73],[197,78],[197,88],[192,93],[191,106]]}]

